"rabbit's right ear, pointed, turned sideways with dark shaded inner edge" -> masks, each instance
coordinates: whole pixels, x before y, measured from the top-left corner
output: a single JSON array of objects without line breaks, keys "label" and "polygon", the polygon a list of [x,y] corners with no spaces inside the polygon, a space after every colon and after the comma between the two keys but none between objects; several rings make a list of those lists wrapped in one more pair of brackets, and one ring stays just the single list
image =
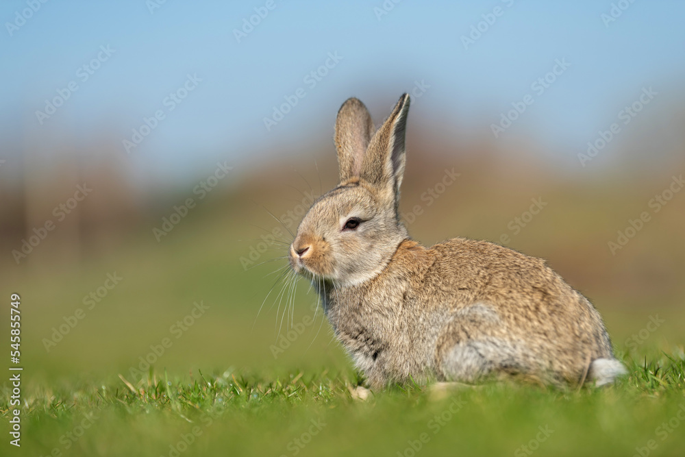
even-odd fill
[{"label": "rabbit's right ear, pointed, turned sideways with dark shaded inner edge", "polygon": [[362,177],[392,196],[395,208],[399,205],[399,186],[406,162],[404,134],[409,112],[409,94],[403,94],[390,117],[378,129],[362,162]]}]

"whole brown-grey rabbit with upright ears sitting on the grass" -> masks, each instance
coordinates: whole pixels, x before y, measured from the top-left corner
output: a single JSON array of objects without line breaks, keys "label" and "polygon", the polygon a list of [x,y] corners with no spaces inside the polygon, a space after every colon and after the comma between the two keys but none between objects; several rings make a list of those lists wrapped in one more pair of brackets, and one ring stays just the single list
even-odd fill
[{"label": "whole brown-grey rabbit with upright ears sitting on the grass", "polygon": [[410,97],[375,131],[364,104],[338,111],[340,184],[312,203],[289,247],[371,388],[524,378],[600,386],[626,373],[602,318],[545,264],[486,241],[426,248],[399,217]]}]

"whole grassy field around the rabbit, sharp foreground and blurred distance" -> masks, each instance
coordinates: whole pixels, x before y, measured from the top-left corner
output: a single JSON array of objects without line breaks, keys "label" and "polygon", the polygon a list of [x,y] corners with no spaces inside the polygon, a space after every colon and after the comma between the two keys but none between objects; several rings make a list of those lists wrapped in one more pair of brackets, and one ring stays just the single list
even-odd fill
[{"label": "whole grassy field around the rabbit, sharp foreground and blurred distance", "polygon": [[[458,186],[450,192],[463,196]],[[41,260],[3,269],[11,288],[3,296],[21,295],[24,371],[22,446],[10,446],[5,433],[0,454],[682,455],[685,256],[669,243],[682,238],[682,204],[673,203],[612,257],[606,240],[642,200],[616,193],[627,203],[606,214],[615,195],[552,192],[544,195],[554,205],[512,247],[548,258],[593,299],[630,370],[615,386],[486,384],[436,399],[426,386],[409,385],[355,400],[350,389],[361,380],[306,283],[292,291],[292,314],[284,318],[285,301],[272,295],[258,315],[282,260],[245,270],[240,258],[260,242],[251,223],[269,232],[274,221],[259,206],[236,210],[240,203],[216,200],[160,243],[146,230],[125,249],[86,253],[78,264]],[[410,229],[429,241],[454,234],[497,239],[518,211],[511,208],[530,205],[525,190],[508,200],[473,194],[484,197],[463,197],[458,214],[451,209],[456,197],[443,197]],[[586,195],[593,205],[584,203]],[[221,212],[226,206],[233,209]],[[440,217],[452,213],[452,220]],[[255,263],[279,252],[270,249]],[[672,268],[650,270],[664,264]],[[102,288],[108,275],[121,279]],[[104,295],[94,304],[84,300],[97,291]],[[82,317],[64,327],[79,309]],[[10,395],[5,380],[5,423]]]}]

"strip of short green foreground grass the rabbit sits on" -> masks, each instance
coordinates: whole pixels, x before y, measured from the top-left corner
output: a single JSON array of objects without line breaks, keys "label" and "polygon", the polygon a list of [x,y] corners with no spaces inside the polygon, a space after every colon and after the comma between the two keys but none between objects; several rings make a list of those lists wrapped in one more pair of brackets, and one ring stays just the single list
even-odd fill
[{"label": "strip of short green foreground grass the rabbit sits on", "polygon": [[[608,388],[498,383],[434,399],[425,386],[408,385],[366,402],[351,397],[360,380],[350,371],[78,380],[25,396],[21,455],[410,456],[412,445],[426,456],[527,455],[521,446],[533,441],[538,455],[619,456],[650,440],[651,455],[678,455],[685,360],[647,360],[632,362],[630,376]],[[7,417],[6,391],[0,408]],[[669,420],[672,430],[662,425]]]}]

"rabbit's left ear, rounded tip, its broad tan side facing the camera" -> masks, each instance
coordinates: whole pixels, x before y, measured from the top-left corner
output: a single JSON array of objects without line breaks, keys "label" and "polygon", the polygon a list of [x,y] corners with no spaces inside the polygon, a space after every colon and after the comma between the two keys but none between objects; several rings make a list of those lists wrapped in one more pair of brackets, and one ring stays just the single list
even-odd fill
[{"label": "rabbit's left ear, rounded tip, its broad tan side facing the camera", "polygon": [[373,135],[371,114],[364,103],[352,97],[338,110],[336,119],[336,149],[340,182],[359,177],[362,160]]}]

